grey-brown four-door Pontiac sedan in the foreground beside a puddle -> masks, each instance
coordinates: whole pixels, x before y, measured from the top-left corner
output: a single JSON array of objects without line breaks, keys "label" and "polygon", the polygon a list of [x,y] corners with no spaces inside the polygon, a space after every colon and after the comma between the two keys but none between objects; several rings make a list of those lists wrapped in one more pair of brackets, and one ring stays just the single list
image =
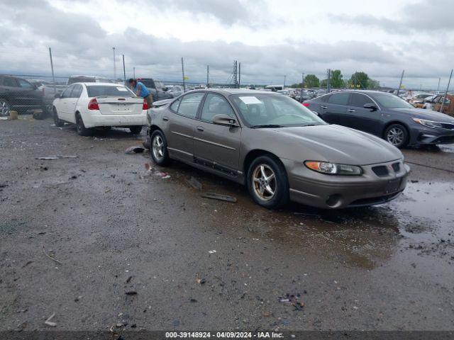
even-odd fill
[{"label": "grey-brown four-door Pontiac sedan in the foreground beside a puddle", "polygon": [[385,203],[409,174],[396,147],[270,92],[191,91],[150,109],[148,123],[158,165],[177,159],[242,183],[271,209],[288,200],[329,209]]}]

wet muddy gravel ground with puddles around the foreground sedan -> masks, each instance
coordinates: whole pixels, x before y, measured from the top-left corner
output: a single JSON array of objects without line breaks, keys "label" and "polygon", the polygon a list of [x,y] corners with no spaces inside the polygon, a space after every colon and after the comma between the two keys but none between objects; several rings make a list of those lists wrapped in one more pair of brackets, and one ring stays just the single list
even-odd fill
[{"label": "wet muddy gravel ground with puddles around the foreground sedan", "polygon": [[[404,150],[386,205],[270,211],[184,164],[145,170],[123,129],[23,118],[0,137],[1,330],[454,328],[454,145]],[[36,159],[55,154],[77,158]]]}]

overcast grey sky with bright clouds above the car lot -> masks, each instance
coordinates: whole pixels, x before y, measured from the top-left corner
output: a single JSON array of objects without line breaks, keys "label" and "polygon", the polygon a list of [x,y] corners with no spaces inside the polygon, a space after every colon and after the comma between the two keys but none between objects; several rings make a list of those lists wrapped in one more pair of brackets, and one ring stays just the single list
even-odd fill
[{"label": "overcast grey sky with bright clouds above the car lot", "polygon": [[2,0],[0,72],[287,84],[301,73],[364,71],[385,86],[446,86],[453,0]]}]

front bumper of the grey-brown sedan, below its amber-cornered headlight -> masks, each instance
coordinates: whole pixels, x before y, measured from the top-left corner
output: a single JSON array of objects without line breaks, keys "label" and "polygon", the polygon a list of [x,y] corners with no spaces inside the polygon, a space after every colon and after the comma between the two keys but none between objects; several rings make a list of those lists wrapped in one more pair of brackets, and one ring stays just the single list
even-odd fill
[{"label": "front bumper of the grey-brown sedan, below its amber-cornered headlight", "polygon": [[[282,159],[289,177],[290,200],[317,208],[342,209],[386,203],[397,198],[406,186],[410,172],[402,160],[362,166],[361,176],[319,174],[301,162]],[[399,171],[390,166],[399,163]],[[378,176],[372,168],[388,169],[389,174]]]}]

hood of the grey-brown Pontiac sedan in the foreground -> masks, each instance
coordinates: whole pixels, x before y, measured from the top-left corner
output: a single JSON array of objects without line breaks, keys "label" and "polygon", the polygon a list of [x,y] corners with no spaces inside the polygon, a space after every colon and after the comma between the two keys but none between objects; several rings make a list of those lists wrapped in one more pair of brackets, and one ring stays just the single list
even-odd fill
[{"label": "hood of the grey-brown Pontiac sedan in the foreground", "polygon": [[285,143],[286,147],[282,148],[279,154],[295,161],[314,160],[367,165],[403,158],[402,152],[397,147],[379,137],[340,125],[266,130],[275,137],[279,136]]}]

